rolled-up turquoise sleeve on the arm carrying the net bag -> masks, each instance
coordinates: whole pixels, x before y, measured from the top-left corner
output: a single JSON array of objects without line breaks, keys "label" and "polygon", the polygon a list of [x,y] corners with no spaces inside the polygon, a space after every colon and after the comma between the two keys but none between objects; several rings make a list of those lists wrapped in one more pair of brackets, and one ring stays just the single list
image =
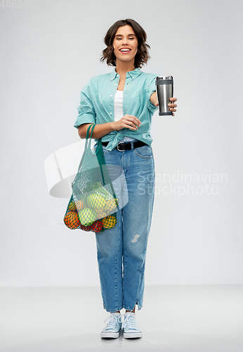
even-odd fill
[{"label": "rolled-up turquoise sleeve on the arm carrying the net bag", "polygon": [[74,123],[74,127],[78,128],[83,123],[96,123],[96,111],[91,101],[90,82],[81,90],[80,104],[77,106],[79,115]]}]

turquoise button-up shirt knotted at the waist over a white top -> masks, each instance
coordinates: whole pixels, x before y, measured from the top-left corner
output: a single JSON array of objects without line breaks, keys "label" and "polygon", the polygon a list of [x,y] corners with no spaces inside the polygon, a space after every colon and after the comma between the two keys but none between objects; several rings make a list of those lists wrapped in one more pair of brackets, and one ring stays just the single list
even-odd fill
[{"label": "turquoise button-up shirt knotted at the waist over a white top", "polygon": [[[141,122],[138,130],[123,128],[112,131],[102,137],[102,142],[109,142],[107,150],[111,151],[124,136],[138,139],[148,145],[152,144],[150,135],[151,118],[157,110],[150,101],[155,92],[155,78],[153,73],[144,73],[140,68],[126,73],[123,89],[123,113],[136,116]],[[79,115],[74,123],[78,128],[83,123],[106,123],[114,121],[114,94],[117,92],[120,76],[115,68],[111,73],[92,77],[81,90],[80,105],[77,107]]]}]

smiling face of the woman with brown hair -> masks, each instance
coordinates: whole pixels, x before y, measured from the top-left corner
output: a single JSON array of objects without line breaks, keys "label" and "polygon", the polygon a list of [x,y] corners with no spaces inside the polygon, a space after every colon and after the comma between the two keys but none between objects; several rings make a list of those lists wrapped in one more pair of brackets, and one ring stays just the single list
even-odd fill
[{"label": "smiling face of the woman with brown hair", "polygon": [[130,25],[123,25],[118,28],[114,36],[113,48],[117,61],[131,61],[134,63],[138,51],[138,39]]}]

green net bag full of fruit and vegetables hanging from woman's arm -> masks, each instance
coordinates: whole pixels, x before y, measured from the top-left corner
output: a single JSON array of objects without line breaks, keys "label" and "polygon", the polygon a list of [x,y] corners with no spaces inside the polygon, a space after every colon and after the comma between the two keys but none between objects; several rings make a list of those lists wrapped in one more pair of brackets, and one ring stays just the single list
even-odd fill
[{"label": "green net bag full of fruit and vegetables hanging from woman's arm", "polygon": [[[67,205],[64,223],[71,230],[97,233],[116,225],[119,200],[105,165],[101,139],[98,139],[96,151],[93,153],[91,150],[95,126],[88,126],[84,153],[72,182],[72,196]],[[90,128],[91,137],[88,141]]]}]

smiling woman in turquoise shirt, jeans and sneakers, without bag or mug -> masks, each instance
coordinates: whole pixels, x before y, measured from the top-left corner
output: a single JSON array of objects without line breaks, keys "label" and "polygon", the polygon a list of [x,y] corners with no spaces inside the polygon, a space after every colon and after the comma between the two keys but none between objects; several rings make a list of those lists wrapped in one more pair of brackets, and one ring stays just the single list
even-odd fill
[{"label": "smiling woman in turquoise shirt, jeans and sneakers, without bag or mug", "polygon": [[[150,58],[146,39],[145,31],[135,20],[118,20],[110,27],[100,61],[114,69],[92,77],[82,89],[74,124],[79,137],[85,138],[88,126],[96,123],[92,138],[102,138],[110,172],[113,166],[123,171],[118,183],[114,181],[119,198],[117,225],[96,234],[103,307],[110,313],[101,337],[116,338],[121,332],[125,338],[142,337],[136,325],[135,307],[137,304],[140,310],[143,306],[145,256],[155,189],[150,127],[158,106],[157,75],[140,70]],[[171,98],[170,111],[176,111],[176,100]],[[124,315],[120,313],[122,308],[126,309]]]}]

